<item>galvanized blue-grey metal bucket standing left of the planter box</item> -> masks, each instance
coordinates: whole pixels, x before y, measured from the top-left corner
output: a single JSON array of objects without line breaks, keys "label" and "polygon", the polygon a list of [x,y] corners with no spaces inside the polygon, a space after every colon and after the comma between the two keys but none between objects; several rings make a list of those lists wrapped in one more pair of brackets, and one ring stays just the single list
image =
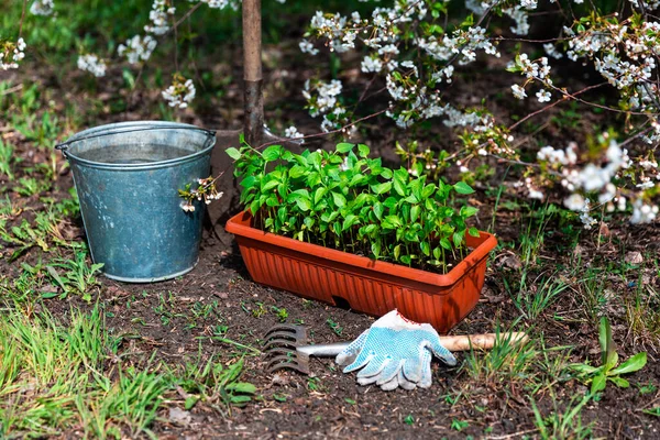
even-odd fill
[{"label": "galvanized blue-grey metal bucket standing left of the planter box", "polygon": [[209,176],[215,144],[209,130],[142,121],[85,130],[56,146],[70,163],[91,257],[106,276],[152,283],[195,267],[205,204],[186,212],[178,190]]}]

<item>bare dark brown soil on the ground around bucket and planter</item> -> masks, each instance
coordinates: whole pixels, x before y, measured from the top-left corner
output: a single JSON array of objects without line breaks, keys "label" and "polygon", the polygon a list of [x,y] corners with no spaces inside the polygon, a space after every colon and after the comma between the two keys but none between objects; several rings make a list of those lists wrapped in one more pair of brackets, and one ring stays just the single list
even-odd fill
[{"label": "bare dark brown soil on the ground around bucket and planter", "polygon": [[[292,69],[292,75],[284,80],[277,79],[276,72],[270,72],[268,75],[272,76],[266,79],[266,82],[278,84],[278,89],[271,90],[267,118],[276,118],[280,105],[286,109],[290,108],[292,103],[287,100],[290,100],[292,95],[297,96],[295,91],[309,76],[309,72]],[[240,77],[240,72],[234,72],[234,77]],[[487,84],[474,82],[469,78],[463,84],[457,85],[457,89],[452,92],[470,97],[480,95],[476,92],[479,90],[488,89],[491,95],[495,95],[509,86],[510,77],[506,80],[501,77],[490,77]],[[114,91],[107,90],[106,98],[101,97],[105,105],[111,100]],[[237,110],[240,108],[240,89],[232,86],[228,90],[228,96],[229,105],[223,108],[227,114],[216,112],[198,117],[186,113],[183,119],[213,129],[238,129],[240,124],[237,121],[242,117],[242,112]],[[105,116],[102,121],[90,121],[90,124],[150,118],[152,114],[147,106],[142,106],[142,101],[150,99],[157,99],[157,97],[146,92],[132,96],[127,112]],[[503,113],[508,114],[510,109],[504,109],[508,105],[508,100],[502,102]],[[520,112],[524,110],[520,109]],[[292,112],[288,118],[297,120],[298,117],[302,118],[301,114]],[[370,124],[372,122],[365,127],[377,128],[375,122],[373,125]],[[309,121],[308,118],[302,119],[297,125],[305,132],[318,130],[316,122]],[[10,125],[2,127],[4,128],[8,128],[7,131],[12,130]],[[561,145],[561,139],[565,136],[563,130],[565,129],[557,129],[553,133],[554,140],[558,141],[557,145]],[[223,150],[237,144],[235,133],[222,134],[215,152],[216,172],[229,169],[230,161],[223,154]],[[393,162],[396,157],[392,154],[391,146],[396,138],[396,132],[381,129],[375,131],[369,144],[372,150],[380,151],[386,160]],[[18,134],[16,139],[22,146],[21,156],[30,160],[30,163],[46,162],[45,155],[32,154],[33,145],[20,143]],[[428,135],[429,144],[435,147],[450,147],[452,139],[442,128],[433,128]],[[308,144],[312,148],[319,145],[319,143]],[[23,163],[22,166],[26,165],[28,163]],[[495,206],[495,197],[486,196],[484,189],[487,186],[496,187],[502,182],[506,169],[503,164],[493,162],[491,165],[496,169],[492,182],[487,185],[477,183],[476,187],[481,190],[474,199],[470,200],[470,204],[481,209],[477,226],[482,229],[487,229],[493,221]],[[63,197],[66,194],[65,189],[70,185],[68,175],[59,176],[56,183],[58,189],[50,196]],[[107,326],[111,332],[116,336],[124,336],[124,343],[120,348],[122,353],[140,362],[156,351],[158,359],[168,364],[177,364],[185,362],[186,359],[196,358],[201,350],[205,358],[219,353],[229,361],[240,350],[232,344],[209,339],[217,326],[227,326],[223,338],[258,348],[264,332],[278,322],[274,307],[287,310],[287,322],[307,326],[316,343],[350,341],[374,321],[374,318],[369,316],[307,301],[292,294],[252,283],[232,237],[224,233],[222,228],[229,216],[239,209],[231,170],[219,180],[219,186],[226,193],[226,197],[219,204],[211,206],[200,262],[191,273],[180,279],[151,285],[129,285],[102,279],[98,300],[106,310]],[[11,190],[7,194],[14,200],[19,199]],[[515,207],[518,204],[517,196],[516,190],[507,189],[499,201],[499,209],[494,217],[494,229],[502,246],[491,257],[481,302],[452,331],[454,334],[491,332],[494,331],[496,322],[501,322],[506,328],[520,316],[504,288],[504,280],[519,277],[516,267],[520,264],[521,256],[519,248],[514,243],[519,240],[534,212],[524,211],[521,207],[508,209],[506,202]],[[21,204],[28,208],[37,207],[38,200],[21,199]],[[25,212],[24,216],[30,216],[29,211]],[[21,218],[16,217],[15,221],[19,222]],[[660,232],[658,222],[648,227],[632,228],[626,224],[617,226],[614,221],[604,237],[605,240],[598,241],[597,231],[582,233],[578,248],[571,243],[570,233],[558,232],[562,227],[553,220],[553,223],[547,228],[548,231],[556,232],[546,234],[539,261],[552,263],[552,267],[571,266],[576,264],[575,258],[579,254],[583,258],[581,264],[585,266],[592,261],[620,264],[623,254],[639,251],[648,257],[637,272],[625,276],[603,275],[602,282],[607,283],[622,299],[630,297],[631,293],[627,287],[630,279],[646,279],[646,283],[660,288],[658,268],[652,264],[659,251],[659,242],[656,239]],[[72,237],[81,232],[79,224],[67,224],[66,228]],[[0,260],[0,274],[16,276],[21,270],[19,266],[21,262],[36,262],[41,256],[41,251],[31,250],[28,255],[13,263]],[[52,255],[44,255],[44,258],[47,257]],[[546,270],[541,265],[538,266],[539,272]],[[645,276],[647,278],[644,278]],[[169,294],[172,294],[172,301],[167,300]],[[595,322],[579,310],[574,295],[576,294],[573,292],[566,292],[537,321],[522,321],[519,326],[528,329],[531,334],[543,334],[548,346],[572,345],[573,362],[584,362],[585,359],[596,361],[598,354]],[[165,305],[161,298],[165,298]],[[67,316],[72,306],[91,307],[77,297],[43,301],[43,307],[62,317]],[[199,312],[204,307],[209,310],[206,315]],[[561,317],[561,320],[553,319],[557,316]],[[334,330],[330,327],[329,320],[336,323]],[[593,422],[595,437],[658,438],[660,419],[645,415],[641,409],[658,406],[660,393],[656,391],[640,395],[637,385],[648,383],[660,385],[660,365],[656,361],[660,342],[631,336],[620,312],[616,315],[613,326],[622,356],[626,358],[642,349],[648,350],[649,364],[641,372],[629,376],[632,384],[630,388],[620,389],[610,385],[598,402],[590,402],[582,411],[582,424]],[[458,356],[459,362],[465,360],[464,354],[459,353]],[[262,356],[246,355],[245,362],[246,367],[242,378],[256,385],[258,389],[256,402],[245,408],[232,408],[228,414],[221,414],[200,403],[193,409],[193,421],[187,426],[170,422],[167,410],[163,410],[153,427],[156,435],[163,439],[226,437],[463,439],[469,436],[493,439],[524,436],[534,438],[538,433],[527,396],[534,395],[543,415],[548,416],[553,410],[548,389],[531,392],[515,383],[474,381],[460,367],[448,369],[439,363],[433,363],[435,382],[431,388],[384,393],[377,387],[359,386],[354,375],[342,374],[332,360],[314,360],[312,377],[292,372],[283,372],[277,376],[266,374]],[[562,403],[560,410],[565,409],[565,404],[571,396],[584,393],[586,389],[575,381],[566,381],[563,377],[558,377],[557,381],[561,383],[556,386],[557,399]],[[450,400],[457,397],[458,402],[452,405]],[[168,396],[168,407],[183,407],[180,396]],[[407,419],[408,416],[411,416],[411,419]],[[451,428],[453,420],[465,421],[468,426],[458,431]],[[69,436],[63,436],[63,438],[67,437]]]}]

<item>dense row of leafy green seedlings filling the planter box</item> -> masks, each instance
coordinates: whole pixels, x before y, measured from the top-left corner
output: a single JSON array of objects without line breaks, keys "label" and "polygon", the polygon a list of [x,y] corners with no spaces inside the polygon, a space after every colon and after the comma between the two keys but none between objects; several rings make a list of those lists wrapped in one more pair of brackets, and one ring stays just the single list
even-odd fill
[{"label": "dense row of leafy green seedlings filling the planter box", "polygon": [[479,237],[468,226],[477,209],[454,207],[457,196],[474,193],[468,184],[427,183],[421,173],[413,178],[404,167],[370,158],[363,144],[298,155],[280,145],[260,152],[243,142],[227,153],[235,160],[241,202],[267,232],[440,272],[448,258],[464,256],[466,234]]}]

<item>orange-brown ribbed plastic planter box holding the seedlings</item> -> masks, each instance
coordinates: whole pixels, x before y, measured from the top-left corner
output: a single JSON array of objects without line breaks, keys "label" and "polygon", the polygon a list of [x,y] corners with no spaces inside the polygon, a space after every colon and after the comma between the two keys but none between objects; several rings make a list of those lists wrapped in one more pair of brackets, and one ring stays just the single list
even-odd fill
[{"label": "orange-brown ribbed plastic planter box holding the seedlings", "polygon": [[[252,228],[241,212],[227,222],[254,282],[305,298],[382,316],[398,309],[447,333],[476,306],[484,285],[486,258],[497,240],[487,232],[466,237],[474,250],[446,275],[374,261]],[[342,302],[341,299],[339,299]]]}]

